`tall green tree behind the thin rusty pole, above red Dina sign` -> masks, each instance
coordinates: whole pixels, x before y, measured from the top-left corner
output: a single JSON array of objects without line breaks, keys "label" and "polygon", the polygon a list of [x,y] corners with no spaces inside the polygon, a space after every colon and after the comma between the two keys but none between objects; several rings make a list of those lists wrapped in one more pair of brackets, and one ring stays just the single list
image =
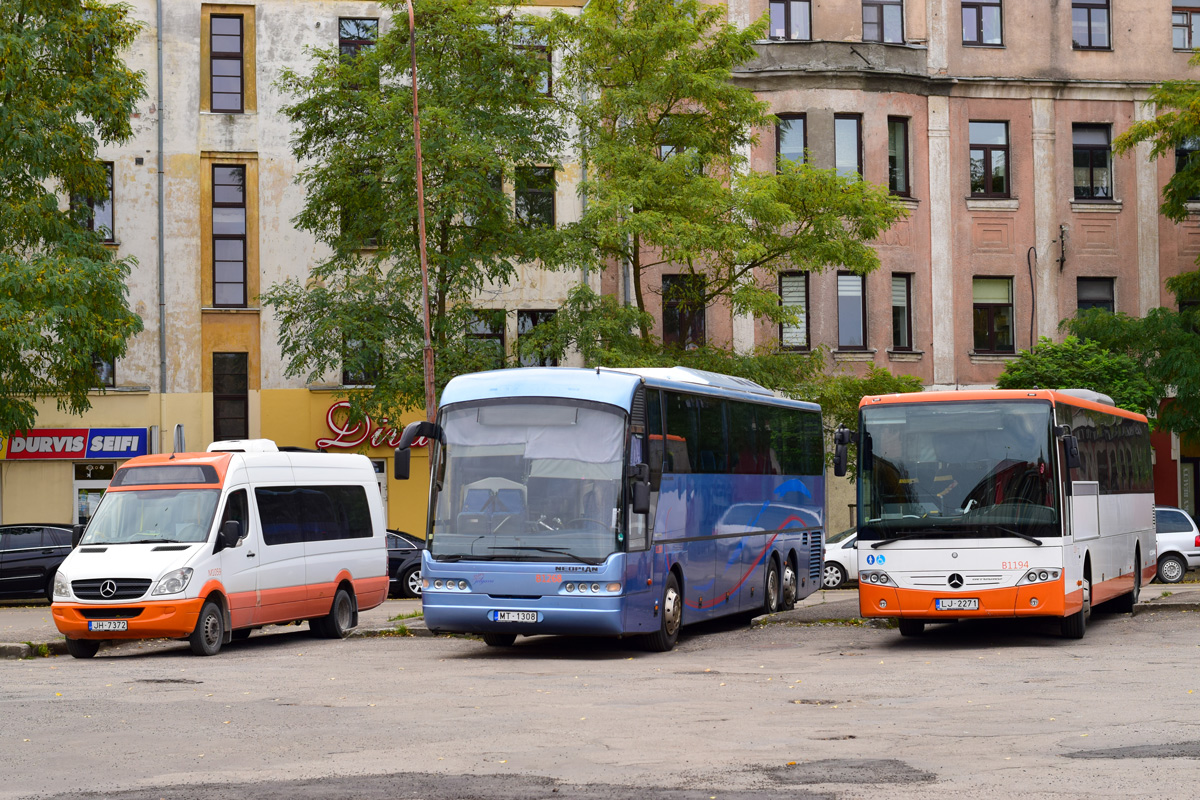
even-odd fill
[{"label": "tall green tree behind the thin rusty pole, above red Dina sign", "polygon": [[[349,393],[352,414],[395,417],[424,405],[421,272],[407,10],[356,58],[311,53],[281,88],[295,125],[293,152],[305,206],[296,225],[328,248],[304,283],[263,295],[280,324],[288,375],[320,380],[342,369],[374,387]],[[503,287],[521,263],[571,258],[540,209],[505,186],[557,167],[564,134],[545,94],[548,62],[533,28],[491,0],[416,4],[430,305],[437,379],[494,366],[469,347],[469,302]],[[552,187],[552,184],[548,184]],[[545,186],[540,188],[546,188]],[[544,197],[544,196],[541,196]]]}]

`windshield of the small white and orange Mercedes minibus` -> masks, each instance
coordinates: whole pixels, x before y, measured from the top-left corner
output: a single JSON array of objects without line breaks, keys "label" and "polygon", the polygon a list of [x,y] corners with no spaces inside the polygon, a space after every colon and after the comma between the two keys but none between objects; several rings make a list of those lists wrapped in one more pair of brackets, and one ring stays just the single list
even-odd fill
[{"label": "windshield of the small white and orange Mercedes minibus", "polygon": [[203,542],[220,497],[216,489],[107,492],[79,543]]}]

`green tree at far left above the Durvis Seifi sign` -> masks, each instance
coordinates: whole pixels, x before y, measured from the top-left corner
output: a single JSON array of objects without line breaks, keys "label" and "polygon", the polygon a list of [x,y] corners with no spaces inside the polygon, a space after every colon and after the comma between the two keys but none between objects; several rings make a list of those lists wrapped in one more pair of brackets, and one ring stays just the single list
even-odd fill
[{"label": "green tree at far left above the Durvis Seifi sign", "polygon": [[83,414],[92,357],[125,355],[142,320],[127,303],[132,258],[89,230],[85,198],[108,197],[98,143],[132,136],[143,76],[121,53],[130,8],[100,0],[0,4],[0,434],[37,403]]}]

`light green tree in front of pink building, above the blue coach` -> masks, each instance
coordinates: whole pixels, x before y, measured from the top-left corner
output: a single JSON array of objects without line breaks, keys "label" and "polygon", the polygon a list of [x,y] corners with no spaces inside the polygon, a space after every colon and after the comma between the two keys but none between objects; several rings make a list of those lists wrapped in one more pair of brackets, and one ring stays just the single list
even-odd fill
[{"label": "light green tree in front of pink building, above the blue coach", "polygon": [[[857,176],[784,162],[748,170],[756,132],[775,119],[733,70],[755,56],[766,18],[739,29],[698,0],[592,0],[554,16],[563,94],[577,98],[586,211],[571,231],[605,263],[629,264],[638,309],[647,270],[674,265],[696,279],[670,297],[683,309],[718,299],[738,313],[796,323],[775,273],[829,265],[865,273],[868,245],[905,215]],[[649,318],[640,333],[650,341]]]}]

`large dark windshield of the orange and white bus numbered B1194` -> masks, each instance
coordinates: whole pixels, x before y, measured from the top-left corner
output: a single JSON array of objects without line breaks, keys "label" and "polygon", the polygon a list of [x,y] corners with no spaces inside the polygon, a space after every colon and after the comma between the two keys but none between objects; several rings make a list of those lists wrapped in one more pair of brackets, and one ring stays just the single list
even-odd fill
[{"label": "large dark windshield of the orange and white bus numbered B1194", "polygon": [[1044,402],[863,409],[860,541],[1060,536]]}]

